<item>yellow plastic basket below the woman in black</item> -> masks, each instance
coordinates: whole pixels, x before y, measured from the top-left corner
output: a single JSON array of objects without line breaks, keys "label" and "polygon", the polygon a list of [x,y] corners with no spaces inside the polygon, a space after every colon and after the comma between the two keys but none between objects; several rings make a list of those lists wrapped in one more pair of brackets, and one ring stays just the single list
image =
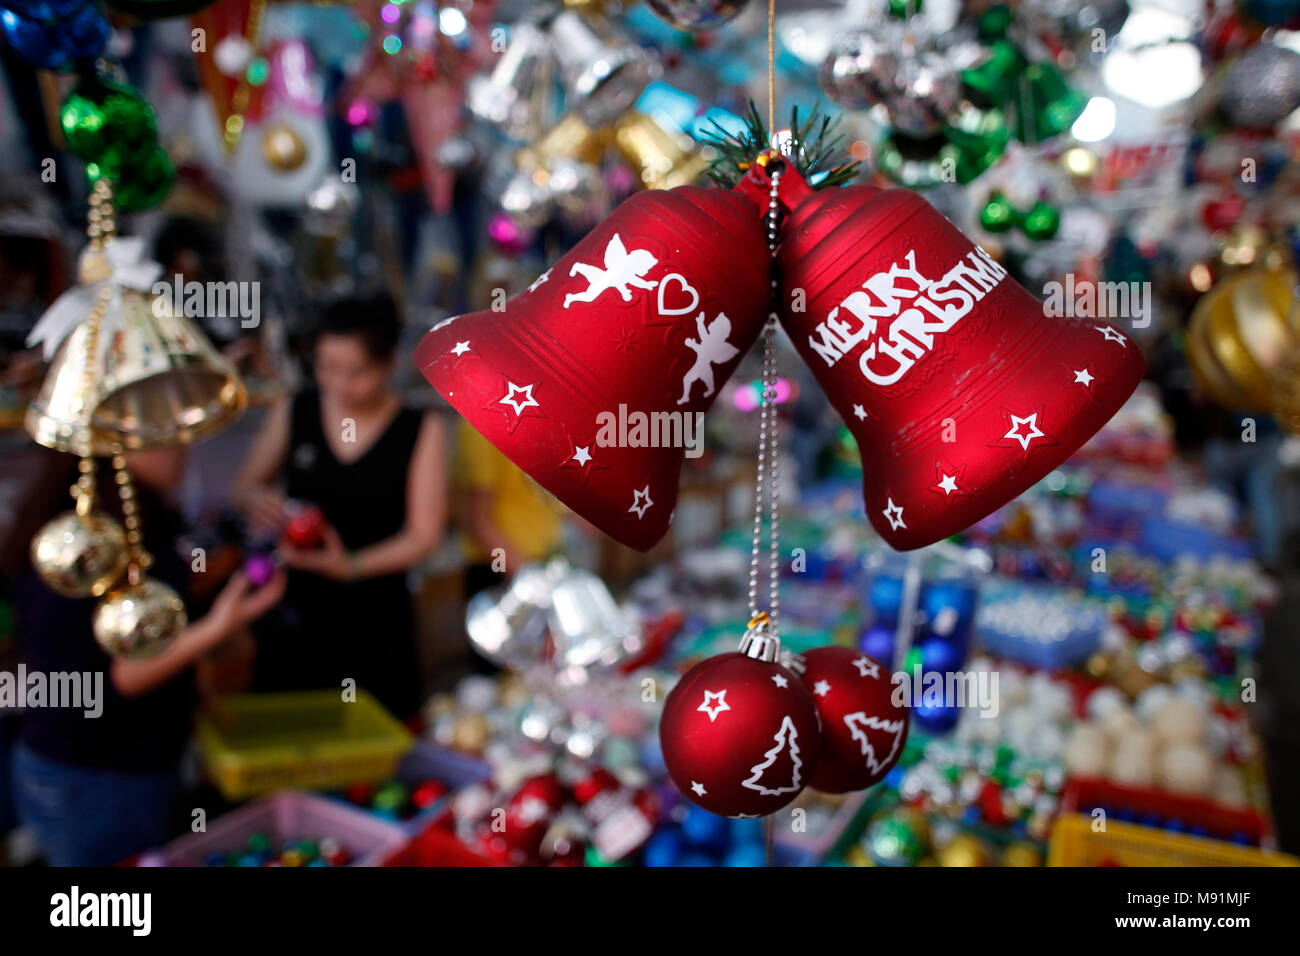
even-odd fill
[{"label": "yellow plastic basket below the woman in black", "polygon": [[229,800],[335,790],[393,775],[411,734],[364,691],[231,695],[200,711],[199,747]]}]

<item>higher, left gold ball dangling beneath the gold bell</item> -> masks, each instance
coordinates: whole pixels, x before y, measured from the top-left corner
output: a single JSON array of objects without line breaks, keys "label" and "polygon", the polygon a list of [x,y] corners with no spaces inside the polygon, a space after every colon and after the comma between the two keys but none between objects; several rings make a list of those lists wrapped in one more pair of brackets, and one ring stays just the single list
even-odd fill
[{"label": "higher, left gold ball dangling beneath the gold bell", "polygon": [[103,514],[65,511],[31,538],[31,564],[65,597],[99,597],[126,571],[126,532]]}]

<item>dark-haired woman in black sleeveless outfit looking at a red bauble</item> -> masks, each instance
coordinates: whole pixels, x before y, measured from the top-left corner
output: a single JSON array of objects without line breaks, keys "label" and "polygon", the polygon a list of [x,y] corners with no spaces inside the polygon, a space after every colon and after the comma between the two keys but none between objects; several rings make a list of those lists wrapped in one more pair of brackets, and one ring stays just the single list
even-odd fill
[{"label": "dark-haired woman in black sleeveless outfit looking at a red bauble", "polygon": [[316,388],[269,412],[235,483],[255,531],[280,533],[292,503],[329,527],[312,550],[281,544],[281,611],[255,630],[254,688],[341,688],[352,679],[399,718],[419,711],[407,572],[446,520],[442,421],[391,385],[402,323],[389,298],[329,307],[313,346]]}]

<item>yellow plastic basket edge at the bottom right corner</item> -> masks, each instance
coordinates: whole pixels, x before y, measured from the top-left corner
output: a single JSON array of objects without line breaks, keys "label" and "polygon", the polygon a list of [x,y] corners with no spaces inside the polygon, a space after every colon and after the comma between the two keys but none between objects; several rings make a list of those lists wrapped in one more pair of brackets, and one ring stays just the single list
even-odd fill
[{"label": "yellow plastic basket edge at the bottom right corner", "polygon": [[1113,819],[1095,832],[1091,817],[1062,813],[1052,827],[1048,866],[1300,866],[1300,860]]}]

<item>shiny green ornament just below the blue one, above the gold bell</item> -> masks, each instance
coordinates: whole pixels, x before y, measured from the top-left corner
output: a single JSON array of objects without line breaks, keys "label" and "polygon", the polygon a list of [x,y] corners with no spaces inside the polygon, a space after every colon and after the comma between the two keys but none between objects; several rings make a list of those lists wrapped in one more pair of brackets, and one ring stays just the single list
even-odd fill
[{"label": "shiny green ornament just below the blue one, above the gold bell", "polygon": [[114,181],[159,142],[148,100],[130,86],[100,77],[82,81],[68,94],[58,122],[68,148]]}]

